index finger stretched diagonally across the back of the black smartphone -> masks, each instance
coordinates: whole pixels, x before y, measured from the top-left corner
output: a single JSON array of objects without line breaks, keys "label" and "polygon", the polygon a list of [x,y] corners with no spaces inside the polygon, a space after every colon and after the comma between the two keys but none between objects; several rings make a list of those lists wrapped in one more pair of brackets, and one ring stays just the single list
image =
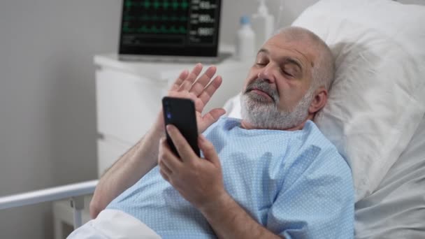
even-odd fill
[{"label": "index finger stretched diagonally across the back of the black smartphone", "polygon": [[192,150],[192,147],[190,147],[189,143],[187,143],[185,137],[182,136],[180,131],[178,131],[175,126],[168,124],[166,129],[171,140],[173,140],[174,146],[177,149],[177,152],[183,162],[194,161],[196,158],[198,158],[194,150]]}]

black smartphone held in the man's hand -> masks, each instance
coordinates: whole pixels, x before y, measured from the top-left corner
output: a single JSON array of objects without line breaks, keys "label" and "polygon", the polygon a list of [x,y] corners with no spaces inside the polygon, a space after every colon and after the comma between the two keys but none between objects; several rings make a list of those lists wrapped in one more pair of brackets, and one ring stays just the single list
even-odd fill
[{"label": "black smartphone held in the man's hand", "polygon": [[[162,112],[164,113],[165,125],[173,124],[178,128],[183,137],[187,140],[195,154],[200,157],[198,147],[198,126],[196,124],[195,103],[191,99],[182,99],[174,97],[164,97],[162,99]],[[178,154],[173,140],[166,132],[167,143],[175,155]]]}]

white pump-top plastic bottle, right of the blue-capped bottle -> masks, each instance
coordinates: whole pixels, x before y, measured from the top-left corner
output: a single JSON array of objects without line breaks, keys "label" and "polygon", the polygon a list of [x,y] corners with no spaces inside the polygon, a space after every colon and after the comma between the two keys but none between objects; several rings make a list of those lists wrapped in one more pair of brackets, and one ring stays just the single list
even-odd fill
[{"label": "white pump-top plastic bottle, right of the blue-capped bottle", "polygon": [[255,49],[259,50],[273,34],[275,17],[268,13],[266,0],[259,0],[258,12],[252,15],[252,29],[255,33]]}]

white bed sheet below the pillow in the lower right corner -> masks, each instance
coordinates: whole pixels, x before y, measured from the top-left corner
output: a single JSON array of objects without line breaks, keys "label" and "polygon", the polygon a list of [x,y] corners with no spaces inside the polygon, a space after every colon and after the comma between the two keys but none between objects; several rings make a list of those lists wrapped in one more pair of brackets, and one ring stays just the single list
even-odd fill
[{"label": "white bed sheet below the pillow in the lower right corner", "polygon": [[373,194],[356,203],[356,238],[425,238],[425,117]]}]

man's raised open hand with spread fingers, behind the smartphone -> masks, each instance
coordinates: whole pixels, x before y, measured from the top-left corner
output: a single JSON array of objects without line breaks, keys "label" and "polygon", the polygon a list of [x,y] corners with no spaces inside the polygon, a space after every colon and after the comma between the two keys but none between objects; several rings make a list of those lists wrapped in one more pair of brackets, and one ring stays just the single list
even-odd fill
[{"label": "man's raised open hand with spread fingers, behind the smartphone", "polygon": [[[208,126],[216,122],[220,116],[226,113],[223,108],[215,108],[210,110],[210,112],[206,113],[205,115],[202,115],[203,108],[205,108],[208,101],[210,101],[211,96],[222,84],[221,76],[217,75],[217,77],[212,79],[212,77],[215,75],[215,72],[217,71],[215,66],[208,67],[205,73],[199,76],[202,68],[202,64],[196,64],[192,72],[189,73],[189,71],[182,71],[167,94],[167,96],[192,99],[192,101],[194,101],[196,109],[196,122],[198,124],[199,133],[202,133],[208,128]],[[161,127],[161,129],[164,129],[164,119],[162,118],[162,112],[159,115],[157,123],[157,126]]]}]

